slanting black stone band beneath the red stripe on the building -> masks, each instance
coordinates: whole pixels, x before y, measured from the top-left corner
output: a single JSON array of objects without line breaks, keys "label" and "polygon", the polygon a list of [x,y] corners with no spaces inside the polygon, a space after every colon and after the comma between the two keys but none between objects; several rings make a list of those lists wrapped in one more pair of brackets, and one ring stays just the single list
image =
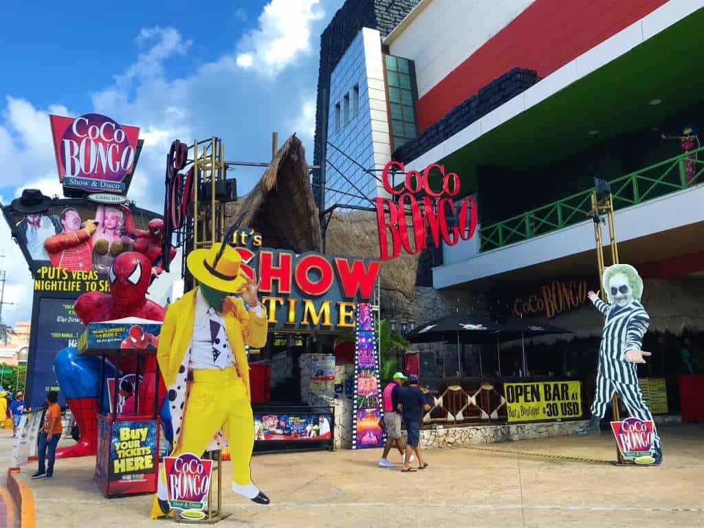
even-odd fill
[{"label": "slanting black stone band beneath the red stripe on the building", "polygon": [[524,92],[538,82],[535,70],[513,68],[486,84],[477,94],[466,99],[446,113],[439,121],[423,130],[421,134],[391,156],[395,160],[410,163],[434,146],[441,144],[503,103]]}]

